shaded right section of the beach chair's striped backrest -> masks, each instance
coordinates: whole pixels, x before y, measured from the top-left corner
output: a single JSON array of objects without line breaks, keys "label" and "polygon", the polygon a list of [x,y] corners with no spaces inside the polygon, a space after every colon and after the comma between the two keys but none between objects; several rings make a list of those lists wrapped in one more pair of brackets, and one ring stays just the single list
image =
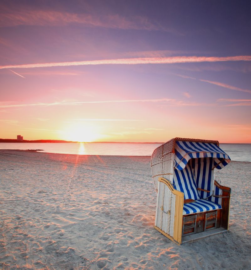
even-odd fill
[{"label": "shaded right section of the beach chair's striped backrest", "polygon": [[214,158],[198,158],[190,159],[191,166],[194,170],[194,178],[198,188],[209,190],[210,192],[205,192],[198,190],[200,199],[206,199],[213,194],[213,166]]}]

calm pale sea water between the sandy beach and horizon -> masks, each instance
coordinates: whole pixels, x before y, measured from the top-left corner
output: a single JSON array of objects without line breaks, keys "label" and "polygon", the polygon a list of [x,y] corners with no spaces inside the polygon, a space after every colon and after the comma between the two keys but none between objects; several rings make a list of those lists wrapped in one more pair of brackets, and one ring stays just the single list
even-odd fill
[{"label": "calm pale sea water between the sandy beach and horizon", "polygon": [[[47,153],[151,156],[157,143],[0,143],[0,149],[43,149]],[[235,161],[251,162],[251,144],[220,144]]]}]

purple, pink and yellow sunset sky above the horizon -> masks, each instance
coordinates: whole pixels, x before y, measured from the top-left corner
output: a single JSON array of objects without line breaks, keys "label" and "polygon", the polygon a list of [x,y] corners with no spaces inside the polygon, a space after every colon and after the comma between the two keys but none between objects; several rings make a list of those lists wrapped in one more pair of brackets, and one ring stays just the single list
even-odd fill
[{"label": "purple, pink and yellow sunset sky above the horizon", "polygon": [[0,138],[251,143],[250,1],[1,1]]}]

